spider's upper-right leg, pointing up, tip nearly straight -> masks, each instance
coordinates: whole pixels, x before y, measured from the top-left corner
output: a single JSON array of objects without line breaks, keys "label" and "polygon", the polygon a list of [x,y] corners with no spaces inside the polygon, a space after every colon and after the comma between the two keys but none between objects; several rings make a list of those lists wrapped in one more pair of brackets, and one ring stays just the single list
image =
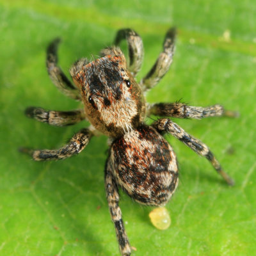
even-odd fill
[{"label": "spider's upper-right leg, pointing up, tip nearly straight", "polygon": [[154,87],[169,70],[174,54],[175,36],[176,29],[170,28],[164,39],[163,52],[159,54],[156,63],[148,74],[140,81],[144,91]]}]

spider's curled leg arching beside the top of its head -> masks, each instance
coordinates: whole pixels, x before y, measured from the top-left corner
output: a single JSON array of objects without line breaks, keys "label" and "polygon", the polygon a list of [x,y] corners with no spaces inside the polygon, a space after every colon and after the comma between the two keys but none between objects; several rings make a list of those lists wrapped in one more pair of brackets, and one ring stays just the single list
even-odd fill
[{"label": "spider's curled leg arching beside the top of its head", "polygon": [[116,33],[115,45],[120,44],[122,40],[127,40],[129,51],[129,66],[128,69],[132,73],[132,76],[140,71],[141,63],[143,61],[143,42],[141,37],[132,29],[120,29]]}]

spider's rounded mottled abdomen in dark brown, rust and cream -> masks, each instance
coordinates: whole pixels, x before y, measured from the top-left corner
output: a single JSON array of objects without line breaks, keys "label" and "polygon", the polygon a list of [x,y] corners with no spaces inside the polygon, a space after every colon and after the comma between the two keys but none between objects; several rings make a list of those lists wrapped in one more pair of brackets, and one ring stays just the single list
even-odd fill
[{"label": "spider's rounded mottled abdomen in dark brown, rust and cream", "polygon": [[175,153],[152,127],[142,125],[116,139],[108,164],[117,183],[141,204],[164,205],[177,188]]}]

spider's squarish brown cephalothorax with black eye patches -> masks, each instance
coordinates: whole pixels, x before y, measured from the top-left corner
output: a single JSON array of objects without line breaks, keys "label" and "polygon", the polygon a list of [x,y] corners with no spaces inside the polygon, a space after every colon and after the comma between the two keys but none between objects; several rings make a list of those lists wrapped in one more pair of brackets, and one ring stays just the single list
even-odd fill
[{"label": "spider's squarish brown cephalothorax with black eye patches", "polygon": [[77,61],[70,73],[81,92],[88,120],[95,129],[116,137],[143,121],[145,102],[122,51],[114,47],[102,53],[107,55],[90,63]]}]

